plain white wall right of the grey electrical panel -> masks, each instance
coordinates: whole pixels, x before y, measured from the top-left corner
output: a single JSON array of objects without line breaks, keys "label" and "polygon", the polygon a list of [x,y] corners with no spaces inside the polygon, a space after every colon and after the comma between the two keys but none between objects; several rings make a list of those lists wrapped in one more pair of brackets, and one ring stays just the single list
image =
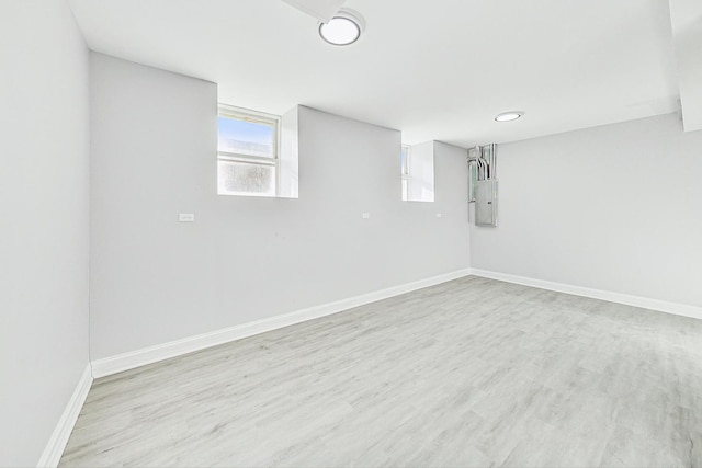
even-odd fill
[{"label": "plain white wall right of the grey electrical panel", "polygon": [[500,145],[497,175],[473,267],[702,306],[702,132],[663,115]]}]

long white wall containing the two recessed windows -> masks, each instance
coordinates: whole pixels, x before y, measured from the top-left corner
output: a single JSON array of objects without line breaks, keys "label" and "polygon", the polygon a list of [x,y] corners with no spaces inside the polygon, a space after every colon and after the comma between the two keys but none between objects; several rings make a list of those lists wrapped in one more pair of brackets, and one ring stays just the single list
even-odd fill
[{"label": "long white wall containing the two recessed windows", "polygon": [[399,132],[301,107],[299,198],[218,196],[214,83],[91,72],[92,358],[467,266],[465,150],[440,146],[435,203],[401,202]]}]

